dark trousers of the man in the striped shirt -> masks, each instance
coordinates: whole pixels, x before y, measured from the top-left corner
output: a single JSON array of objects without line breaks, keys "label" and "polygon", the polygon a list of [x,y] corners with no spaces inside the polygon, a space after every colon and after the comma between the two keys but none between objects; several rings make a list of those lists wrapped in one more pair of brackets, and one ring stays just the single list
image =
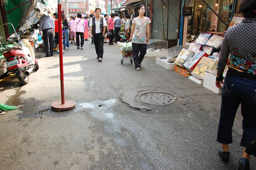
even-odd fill
[{"label": "dark trousers of the man in the striped shirt", "polygon": [[53,56],[53,29],[43,30],[44,46],[47,56]]}]

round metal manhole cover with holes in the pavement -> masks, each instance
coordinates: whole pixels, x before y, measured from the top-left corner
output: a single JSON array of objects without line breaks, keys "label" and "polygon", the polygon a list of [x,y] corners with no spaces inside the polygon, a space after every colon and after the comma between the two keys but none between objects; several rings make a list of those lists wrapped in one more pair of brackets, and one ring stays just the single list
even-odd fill
[{"label": "round metal manhole cover with holes in the pavement", "polygon": [[169,93],[152,91],[139,96],[140,101],[150,105],[169,105],[175,102],[176,97]]}]

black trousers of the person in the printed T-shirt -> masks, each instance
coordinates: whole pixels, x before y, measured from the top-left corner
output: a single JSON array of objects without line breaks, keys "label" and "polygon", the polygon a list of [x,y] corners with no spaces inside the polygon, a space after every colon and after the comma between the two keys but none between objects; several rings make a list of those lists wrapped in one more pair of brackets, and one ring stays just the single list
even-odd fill
[{"label": "black trousers of the person in the printed T-shirt", "polygon": [[[138,44],[132,42],[132,57],[134,59],[135,68],[140,68],[140,64],[147,53],[147,44]],[[140,53],[140,55],[139,55]]]}]

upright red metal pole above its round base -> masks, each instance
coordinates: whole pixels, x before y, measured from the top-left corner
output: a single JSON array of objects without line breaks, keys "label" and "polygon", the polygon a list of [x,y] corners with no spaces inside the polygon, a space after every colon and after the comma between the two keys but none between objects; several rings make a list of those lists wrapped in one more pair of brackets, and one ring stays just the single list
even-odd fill
[{"label": "upright red metal pole above its round base", "polygon": [[63,53],[62,53],[62,29],[61,29],[61,3],[58,3],[58,33],[59,33],[59,54],[60,54],[60,73],[61,73],[61,105],[65,104],[64,78],[63,78]]}]

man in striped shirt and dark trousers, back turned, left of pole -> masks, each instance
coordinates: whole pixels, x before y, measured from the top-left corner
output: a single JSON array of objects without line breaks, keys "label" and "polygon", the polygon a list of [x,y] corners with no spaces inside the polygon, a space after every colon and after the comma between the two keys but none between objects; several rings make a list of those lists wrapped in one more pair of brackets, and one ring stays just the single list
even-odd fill
[{"label": "man in striped shirt and dark trousers, back turned, left of pole", "polygon": [[41,31],[43,31],[43,40],[46,52],[45,57],[53,56],[53,36],[55,35],[54,28],[54,19],[49,15],[43,14],[39,22],[39,34],[41,34]]}]

